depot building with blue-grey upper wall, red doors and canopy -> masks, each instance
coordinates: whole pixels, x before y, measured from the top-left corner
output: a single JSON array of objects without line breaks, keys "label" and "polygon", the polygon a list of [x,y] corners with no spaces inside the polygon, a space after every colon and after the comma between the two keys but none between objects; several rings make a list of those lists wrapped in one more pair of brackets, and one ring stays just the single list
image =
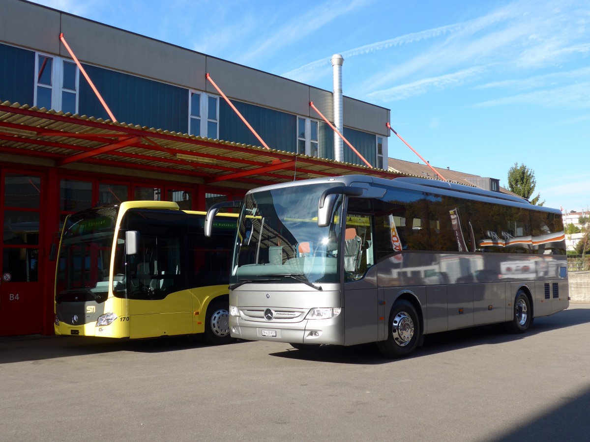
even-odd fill
[{"label": "depot building with blue-grey upper wall, red doors and canopy", "polygon": [[70,213],[125,200],[205,210],[266,184],[399,176],[383,170],[389,110],[343,96],[332,63],[326,91],[2,0],[0,336],[53,334],[48,255]]}]

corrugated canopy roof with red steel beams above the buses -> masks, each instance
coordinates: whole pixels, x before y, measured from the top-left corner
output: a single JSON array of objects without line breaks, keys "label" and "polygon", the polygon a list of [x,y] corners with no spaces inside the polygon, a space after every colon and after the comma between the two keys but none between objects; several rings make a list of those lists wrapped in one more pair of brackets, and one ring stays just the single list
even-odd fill
[{"label": "corrugated canopy roof with red steel beams above the buses", "polygon": [[206,184],[264,185],[349,174],[413,176],[8,101],[0,104],[0,152],[51,159],[55,166],[80,161],[200,177]]}]

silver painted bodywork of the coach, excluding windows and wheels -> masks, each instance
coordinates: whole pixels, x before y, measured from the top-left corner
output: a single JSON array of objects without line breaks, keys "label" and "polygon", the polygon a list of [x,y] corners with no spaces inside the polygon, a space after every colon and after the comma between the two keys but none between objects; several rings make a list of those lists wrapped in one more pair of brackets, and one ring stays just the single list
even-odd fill
[{"label": "silver painted bodywork of the coach, excluding windows and wheels", "polygon": [[[430,186],[432,192],[443,196],[532,209],[529,202],[519,197],[435,180],[351,175],[308,180],[306,184],[326,182],[335,186],[422,192]],[[282,183],[248,193],[291,186],[293,183]],[[548,207],[534,209],[560,214],[559,210]],[[416,306],[422,334],[432,334],[512,321],[514,299],[521,289],[530,295],[533,317],[546,316],[568,308],[565,269],[565,255],[404,250],[376,262],[359,281],[319,284],[323,291],[297,282],[246,283],[230,292],[230,305],[240,309],[240,316],[230,316],[231,335],[309,344],[355,345],[382,341],[388,338],[389,312],[400,297]],[[332,319],[303,319],[315,307],[341,307],[342,311]],[[300,316],[297,321],[266,321],[242,314],[258,309],[260,315],[267,308],[287,309]],[[263,335],[263,330],[274,330],[276,336]],[[310,339],[310,331],[321,333]]]}]

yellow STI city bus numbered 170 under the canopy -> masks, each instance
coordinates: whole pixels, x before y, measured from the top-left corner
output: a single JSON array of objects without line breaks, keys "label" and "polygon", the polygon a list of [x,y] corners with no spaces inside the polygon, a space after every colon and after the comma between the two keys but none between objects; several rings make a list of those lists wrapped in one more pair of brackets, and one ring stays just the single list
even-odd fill
[{"label": "yellow STI city bus numbered 170 under the canopy", "polygon": [[237,214],[129,201],[67,217],[55,278],[55,334],[231,339],[228,275]]}]

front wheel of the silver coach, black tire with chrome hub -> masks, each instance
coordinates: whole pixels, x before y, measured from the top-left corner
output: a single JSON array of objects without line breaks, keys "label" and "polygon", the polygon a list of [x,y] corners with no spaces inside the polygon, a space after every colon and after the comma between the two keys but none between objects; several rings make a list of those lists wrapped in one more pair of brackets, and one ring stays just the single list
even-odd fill
[{"label": "front wheel of the silver coach, black tire with chrome hub", "polygon": [[420,340],[420,319],[409,301],[399,299],[391,308],[388,337],[377,342],[377,348],[386,358],[404,358],[411,354]]}]

